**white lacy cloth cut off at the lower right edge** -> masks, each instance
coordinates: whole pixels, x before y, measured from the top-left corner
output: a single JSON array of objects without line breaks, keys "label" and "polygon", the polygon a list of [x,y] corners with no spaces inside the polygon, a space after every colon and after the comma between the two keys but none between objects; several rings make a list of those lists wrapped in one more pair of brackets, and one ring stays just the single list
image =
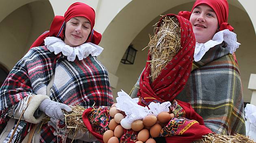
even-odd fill
[{"label": "white lacy cloth cut off at the lower right edge", "polygon": [[245,128],[246,135],[256,141],[256,106],[252,104],[246,104],[245,107]]}]

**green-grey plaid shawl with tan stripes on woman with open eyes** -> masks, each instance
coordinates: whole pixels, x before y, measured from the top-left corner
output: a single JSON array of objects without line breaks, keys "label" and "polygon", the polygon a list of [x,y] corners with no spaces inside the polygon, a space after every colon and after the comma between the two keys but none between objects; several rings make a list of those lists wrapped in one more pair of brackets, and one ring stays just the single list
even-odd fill
[{"label": "green-grey plaid shawl with tan stripes on woman with open eyes", "polygon": [[[131,97],[137,97],[138,89],[139,82]],[[201,61],[193,63],[189,80],[176,99],[190,103],[213,132],[245,135],[239,67],[222,44],[210,48]]]}]

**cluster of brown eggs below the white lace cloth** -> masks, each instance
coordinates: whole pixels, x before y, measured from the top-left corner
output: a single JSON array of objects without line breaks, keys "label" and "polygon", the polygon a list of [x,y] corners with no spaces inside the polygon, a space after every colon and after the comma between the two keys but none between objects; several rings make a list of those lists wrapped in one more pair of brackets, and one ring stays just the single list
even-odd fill
[{"label": "cluster of brown eggs below the white lace cloth", "polygon": [[174,114],[170,110],[169,112],[159,113],[157,117],[148,115],[143,120],[136,120],[132,122],[131,126],[127,126],[122,124],[122,119],[126,115],[123,111],[118,110],[115,104],[111,106],[109,114],[113,119],[110,120],[108,125],[110,130],[107,130],[103,135],[104,143],[119,143],[119,138],[124,135],[124,128],[139,132],[136,143],[156,143],[153,138],[158,137],[162,127],[174,118]]}]

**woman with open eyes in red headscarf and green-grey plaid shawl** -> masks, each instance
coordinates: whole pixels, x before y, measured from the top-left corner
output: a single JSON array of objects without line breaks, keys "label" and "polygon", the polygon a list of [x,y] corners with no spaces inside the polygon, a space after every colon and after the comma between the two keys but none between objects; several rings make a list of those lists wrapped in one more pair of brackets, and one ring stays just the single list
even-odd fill
[{"label": "woman with open eyes in red headscarf and green-grey plaid shawl", "polygon": [[245,134],[239,67],[232,55],[239,43],[228,21],[226,0],[196,0],[191,12],[181,11],[195,34],[195,54],[186,87],[177,96],[191,103],[216,133]]}]

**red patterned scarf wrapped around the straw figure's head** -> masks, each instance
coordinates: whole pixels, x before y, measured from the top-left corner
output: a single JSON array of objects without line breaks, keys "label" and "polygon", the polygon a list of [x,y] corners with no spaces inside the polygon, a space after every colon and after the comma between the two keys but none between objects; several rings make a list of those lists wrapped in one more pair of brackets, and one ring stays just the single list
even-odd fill
[{"label": "red patterned scarf wrapped around the straw figure's head", "polygon": [[[151,74],[150,62],[146,63],[146,67],[141,74],[140,90],[138,92],[138,96],[141,97],[139,104],[143,106],[149,105],[150,102],[172,101],[185,87],[191,72],[195,50],[195,36],[191,23],[178,15],[168,14],[166,16],[174,16],[178,19],[181,34],[180,46],[182,48],[151,84],[150,78],[148,78]],[[158,27],[160,26],[161,22],[158,23]],[[150,60],[151,55],[148,55],[147,61]]]}]

